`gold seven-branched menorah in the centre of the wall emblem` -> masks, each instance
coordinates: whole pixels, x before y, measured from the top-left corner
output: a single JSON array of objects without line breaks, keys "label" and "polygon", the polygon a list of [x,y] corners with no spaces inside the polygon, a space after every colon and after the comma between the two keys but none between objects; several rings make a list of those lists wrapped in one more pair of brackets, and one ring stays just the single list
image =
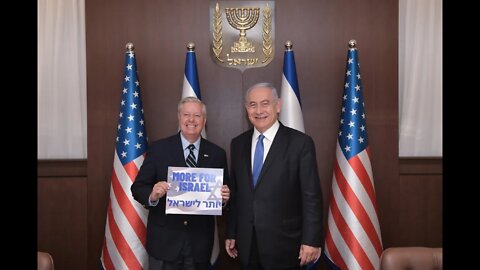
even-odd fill
[{"label": "gold seven-branched menorah in the centre of the wall emblem", "polygon": [[260,8],[225,8],[228,23],[240,30],[238,42],[234,42],[231,52],[255,52],[255,47],[247,40],[247,30],[254,27],[260,16]]}]

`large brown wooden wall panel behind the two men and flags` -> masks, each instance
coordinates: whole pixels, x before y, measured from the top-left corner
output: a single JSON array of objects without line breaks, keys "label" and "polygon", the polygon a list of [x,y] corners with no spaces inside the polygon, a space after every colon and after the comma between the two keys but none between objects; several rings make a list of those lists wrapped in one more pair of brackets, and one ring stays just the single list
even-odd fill
[{"label": "large brown wooden wall panel behind the two men and flags", "polygon": [[136,48],[150,141],[177,131],[185,46],[196,43],[202,99],[208,107],[208,139],[229,154],[230,140],[249,127],[242,105],[245,89],[259,81],[273,82],[280,89],[284,43],[291,40],[305,129],[316,144],[326,210],[347,44],[356,39],[383,240],[389,245],[398,241],[397,232],[390,229],[398,224],[398,217],[390,213],[399,207],[397,0],[275,1],[275,57],[268,66],[243,73],[222,68],[210,58],[207,0],[87,0],[85,4],[89,269],[98,264],[104,235],[127,42]]}]

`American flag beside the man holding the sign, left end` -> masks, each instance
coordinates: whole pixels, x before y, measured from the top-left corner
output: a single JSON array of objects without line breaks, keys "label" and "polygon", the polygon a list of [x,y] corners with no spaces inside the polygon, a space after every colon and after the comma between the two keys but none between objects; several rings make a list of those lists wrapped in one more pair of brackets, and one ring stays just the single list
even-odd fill
[{"label": "American flag beside the man holding the sign, left end", "polygon": [[135,52],[129,43],[125,53],[125,76],[102,247],[101,263],[104,269],[148,269],[148,211],[133,199],[130,192],[146,151],[147,134],[140,82]]}]

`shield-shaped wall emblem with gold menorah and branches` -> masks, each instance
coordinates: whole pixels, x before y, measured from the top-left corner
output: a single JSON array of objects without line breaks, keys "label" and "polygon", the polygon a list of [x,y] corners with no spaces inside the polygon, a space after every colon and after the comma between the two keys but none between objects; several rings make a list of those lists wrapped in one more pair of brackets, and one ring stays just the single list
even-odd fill
[{"label": "shield-shaped wall emblem with gold menorah and branches", "polygon": [[225,67],[263,67],[273,59],[274,1],[210,1],[213,61]]}]

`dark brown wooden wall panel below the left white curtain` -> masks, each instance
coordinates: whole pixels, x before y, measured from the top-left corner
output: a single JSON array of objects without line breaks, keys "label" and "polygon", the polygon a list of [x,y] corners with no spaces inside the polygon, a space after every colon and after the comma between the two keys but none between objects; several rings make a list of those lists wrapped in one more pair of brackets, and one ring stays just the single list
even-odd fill
[{"label": "dark brown wooden wall panel below the left white curtain", "polygon": [[87,269],[86,161],[39,161],[37,248],[55,269]]}]

